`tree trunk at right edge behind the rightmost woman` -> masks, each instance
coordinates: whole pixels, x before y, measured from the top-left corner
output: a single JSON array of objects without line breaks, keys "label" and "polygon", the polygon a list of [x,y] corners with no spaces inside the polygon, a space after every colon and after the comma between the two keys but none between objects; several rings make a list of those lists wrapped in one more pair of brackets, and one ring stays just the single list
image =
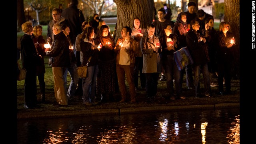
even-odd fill
[{"label": "tree trunk at right edge behind the rightmost woman", "polygon": [[232,48],[234,56],[232,77],[239,78],[240,71],[240,4],[239,0],[225,0],[224,21],[230,24],[230,32],[236,39],[236,45]]}]

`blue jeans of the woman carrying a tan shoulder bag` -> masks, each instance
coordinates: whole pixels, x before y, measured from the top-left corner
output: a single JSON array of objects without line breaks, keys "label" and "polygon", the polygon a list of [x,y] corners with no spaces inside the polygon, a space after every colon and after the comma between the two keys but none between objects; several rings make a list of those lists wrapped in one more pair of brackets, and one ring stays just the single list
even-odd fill
[{"label": "blue jeans of the woman carrying a tan shoulder bag", "polygon": [[83,78],[83,103],[95,102],[96,96],[96,80],[99,66],[88,66],[87,77]]}]

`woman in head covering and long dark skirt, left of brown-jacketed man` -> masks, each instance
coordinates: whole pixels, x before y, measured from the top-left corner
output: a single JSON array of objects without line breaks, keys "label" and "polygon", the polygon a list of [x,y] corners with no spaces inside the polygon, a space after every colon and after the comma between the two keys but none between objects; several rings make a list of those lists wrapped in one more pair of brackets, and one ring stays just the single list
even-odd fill
[{"label": "woman in head covering and long dark skirt, left of brown-jacketed man", "polygon": [[115,43],[107,25],[102,25],[95,39],[95,45],[102,47],[99,52],[99,72],[97,77],[97,94],[101,102],[114,100],[116,87]]}]

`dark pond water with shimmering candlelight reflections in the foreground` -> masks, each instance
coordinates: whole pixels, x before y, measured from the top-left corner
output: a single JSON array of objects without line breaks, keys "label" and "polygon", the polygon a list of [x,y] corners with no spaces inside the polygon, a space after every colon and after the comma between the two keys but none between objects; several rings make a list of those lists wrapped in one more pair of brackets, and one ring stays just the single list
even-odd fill
[{"label": "dark pond water with shimmering candlelight reflections in the foreground", "polygon": [[19,120],[18,144],[238,144],[239,108]]}]

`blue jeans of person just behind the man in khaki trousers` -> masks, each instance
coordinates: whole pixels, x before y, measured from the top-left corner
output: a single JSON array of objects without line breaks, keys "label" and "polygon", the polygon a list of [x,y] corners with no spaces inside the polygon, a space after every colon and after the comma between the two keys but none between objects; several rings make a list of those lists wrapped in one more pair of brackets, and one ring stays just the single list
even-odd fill
[{"label": "blue jeans of person just behind the man in khaki trousers", "polygon": [[65,82],[65,86],[67,84],[67,74],[70,74],[71,77],[71,82],[68,88],[68,97],[74,97],[75,96],[75,92],[76,92],[76,88],[77,88],[77,83],[78,83],[78,74],[77,74],[77,70],[76,70],[76,64],[74,64],[74,66],[71,66],[70,68],[67,68],[63,79]]}]

